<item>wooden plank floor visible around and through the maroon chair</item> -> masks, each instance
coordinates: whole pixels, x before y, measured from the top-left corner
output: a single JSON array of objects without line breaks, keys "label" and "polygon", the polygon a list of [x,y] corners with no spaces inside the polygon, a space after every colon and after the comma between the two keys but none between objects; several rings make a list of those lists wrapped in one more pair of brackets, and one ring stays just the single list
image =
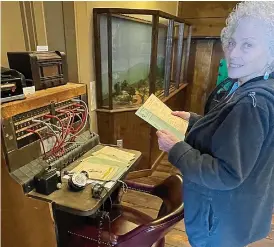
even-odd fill
[{"label": "wooden plank floor visible around and through the maroon chair", "polygon": [[[168,161],[167,157],[164,157],[161,164],[157,167],[157,170],[153,172],[152,176],[132,179],[133,181],[144,184],[159,184],[165,178],[171,174],[179,173],[179,171],[173,167]],[[134,207],[140,211],[151,215],[156,218],[158,210],[161,205],[161,200],[152,195],[148,195],[138,191],[129,190],[124,194],[122,203],[126,206]],[[174,229],[166,236],[166,247],[191,247],[188,243],[187,235],[185,232],[184,222],[179,222]],[[259,241],[249,245],[249,247],[273,247],[274,246],[274,215],[272,217],[272,232],[270,235]]]}]

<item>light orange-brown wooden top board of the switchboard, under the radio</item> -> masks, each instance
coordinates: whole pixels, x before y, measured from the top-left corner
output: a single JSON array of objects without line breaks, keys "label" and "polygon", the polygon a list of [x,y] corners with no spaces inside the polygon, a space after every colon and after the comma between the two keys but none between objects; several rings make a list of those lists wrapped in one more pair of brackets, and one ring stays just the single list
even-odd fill
[{"label": "light orange-brown wooden top board of the switchboard, under the radio", "polygon": [[86,94],[86,84],[83,83],[68,82],[66,85],[39,90],[27,95],[23,100],[3,103],[1,105],[2,119],[43,107],[50,102],[60,102],[83,94]]}]

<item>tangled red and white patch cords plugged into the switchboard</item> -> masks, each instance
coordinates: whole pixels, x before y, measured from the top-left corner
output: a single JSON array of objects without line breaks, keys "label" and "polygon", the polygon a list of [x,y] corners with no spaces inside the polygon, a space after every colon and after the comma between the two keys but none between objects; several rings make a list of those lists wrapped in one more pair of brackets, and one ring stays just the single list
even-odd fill
[{"label": "tangled red and white patch cords plugged into the switchboard", "polygon": [[[39,133],[38,130],[28,129],[28,132],[36,134],[41,142],[42,149],[44,152],[45,158],[50,156],[61,157],[65,153],[65,147],[68,144],[76,143],[76,137],[81,133],[83,129],[85,129],[86,124],[88,122],[88,106],[86,102],[78,99],[73,99],[75,102],[74,107],[72,109],[60,109],[57,110],[57,115],[47,114],[44,116],[44,119],[55,119],[57,120],[57,124],[52,124],[40,119],[33,119],[34,123],[42,123],[47,127],[48,132],[43,133],[44,136]],[[60,119],[60,115],[65,114],[66,117]],[[78,126],[73,126],[75,117],[80,119],[80,124]],[[46,151],[43,140],[54,137],[55,142],[53,147]]]}]

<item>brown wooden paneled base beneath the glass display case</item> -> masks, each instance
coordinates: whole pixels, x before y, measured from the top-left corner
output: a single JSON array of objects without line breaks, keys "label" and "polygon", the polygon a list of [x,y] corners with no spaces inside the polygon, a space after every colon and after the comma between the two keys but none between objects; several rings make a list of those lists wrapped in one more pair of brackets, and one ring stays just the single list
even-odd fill
[{"label": "brown wooden paneled base beneath the glass display case", "polygon": [[[183,110],[187,84],[165,97],[163,101],[173,110]],[[98,134],[101,143],[116,144],[123,140],[123,147],[142,152],[142,159],[130,176],[148,176],[162,157],[158,148],[156,130],[135,115],[135,109],[97,110]],[[130,177],[129,176],[129,177]]]}]

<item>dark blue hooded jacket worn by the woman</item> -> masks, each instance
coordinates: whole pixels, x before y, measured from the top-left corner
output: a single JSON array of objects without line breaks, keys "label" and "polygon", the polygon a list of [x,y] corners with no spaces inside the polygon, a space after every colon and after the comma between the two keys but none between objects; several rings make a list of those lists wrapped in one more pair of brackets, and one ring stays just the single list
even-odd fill
[{"label": "dark blue hooded jacket worn by the woman", "polygon": [[243,247],[266,237],[274,206],[274,80],[253,79],[204,117],[192,115],[169,161],[184,176],[193,247]]}]

